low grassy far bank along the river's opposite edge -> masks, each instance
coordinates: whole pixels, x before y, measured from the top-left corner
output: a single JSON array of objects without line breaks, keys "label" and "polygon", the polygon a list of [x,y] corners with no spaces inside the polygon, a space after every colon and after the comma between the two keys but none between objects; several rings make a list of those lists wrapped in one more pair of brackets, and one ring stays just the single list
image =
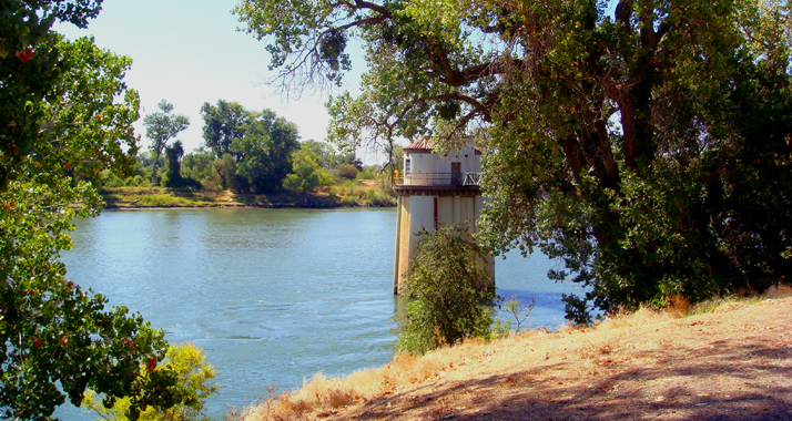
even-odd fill
[{"label": "low grassy far bank along the river's opposite edge", "polygon": [[232,191],[181,191],[166,187],[105,187],[101,189],[108,208],[154,207],[383,207],[395,206],[395,198],[376,188],[338,186],[313,194],[283,192],[274,195]]}]

